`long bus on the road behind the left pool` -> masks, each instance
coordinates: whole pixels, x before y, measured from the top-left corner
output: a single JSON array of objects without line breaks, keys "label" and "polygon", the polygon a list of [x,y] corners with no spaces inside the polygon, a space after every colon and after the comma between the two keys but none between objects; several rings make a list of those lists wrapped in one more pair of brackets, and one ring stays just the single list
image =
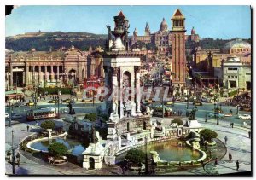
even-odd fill
[{"label": "long bus on the road behind the left pool", "polygon": [[37,120],[37,119],[50,119],[56,118],[58,113],[55,107],[46,107],[28,110],[26,113],[27,120]]}]

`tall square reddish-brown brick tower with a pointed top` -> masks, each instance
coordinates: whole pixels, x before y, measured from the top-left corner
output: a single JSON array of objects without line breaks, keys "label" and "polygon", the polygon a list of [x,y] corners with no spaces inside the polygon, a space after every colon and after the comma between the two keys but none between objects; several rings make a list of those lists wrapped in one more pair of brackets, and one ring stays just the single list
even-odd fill
[{"label": "tall square reddish-brown brick tower with a pointed top", "polygon": [[186,83],[185,17],[179,9],[172,15],[172,84],[182,87]]}]

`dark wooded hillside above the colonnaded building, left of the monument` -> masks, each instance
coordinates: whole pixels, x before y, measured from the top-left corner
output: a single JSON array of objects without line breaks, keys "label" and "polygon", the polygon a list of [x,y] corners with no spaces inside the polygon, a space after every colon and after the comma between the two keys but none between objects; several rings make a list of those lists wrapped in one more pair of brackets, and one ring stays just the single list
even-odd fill
[{"label": "dark wooded hillside above the colonnaded building, left of the monument", "polygon": [[104,47],[108,35],[87,32],[29,32],[5,38],[6,49],[14,51],[60,49],[71,47],[88,50],[98,45]]}]

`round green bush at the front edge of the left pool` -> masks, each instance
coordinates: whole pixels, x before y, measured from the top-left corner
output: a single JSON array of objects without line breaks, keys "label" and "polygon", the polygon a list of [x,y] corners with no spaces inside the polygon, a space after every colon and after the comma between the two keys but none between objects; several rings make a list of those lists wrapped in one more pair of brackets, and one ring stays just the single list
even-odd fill
[{"label": "round green bush at the front edge of the left pool", "polygon": [[55,158],[60,158],[61,156],[67,154],[67,147],[61,142],[54,142],[49,145],[48,152],[49,155]]}]

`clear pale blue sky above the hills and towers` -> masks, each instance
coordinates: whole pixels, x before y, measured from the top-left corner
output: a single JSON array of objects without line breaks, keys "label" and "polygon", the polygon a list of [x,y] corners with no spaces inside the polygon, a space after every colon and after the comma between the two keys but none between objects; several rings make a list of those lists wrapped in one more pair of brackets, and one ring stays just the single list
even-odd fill
[{"label": "clear pale blue sky above the hills and towers", "polygon": [[5,18],[5,36],[25,32],[92,32],[107,34],[113,16],[122,10],[130,23],[144,35],[146,22],[151,32],[160,29],[163,18],[171,29],[175,9],[185,16],[186,34],[192,27],[201,38],[251,38],[250,6],[20,6]]}]

